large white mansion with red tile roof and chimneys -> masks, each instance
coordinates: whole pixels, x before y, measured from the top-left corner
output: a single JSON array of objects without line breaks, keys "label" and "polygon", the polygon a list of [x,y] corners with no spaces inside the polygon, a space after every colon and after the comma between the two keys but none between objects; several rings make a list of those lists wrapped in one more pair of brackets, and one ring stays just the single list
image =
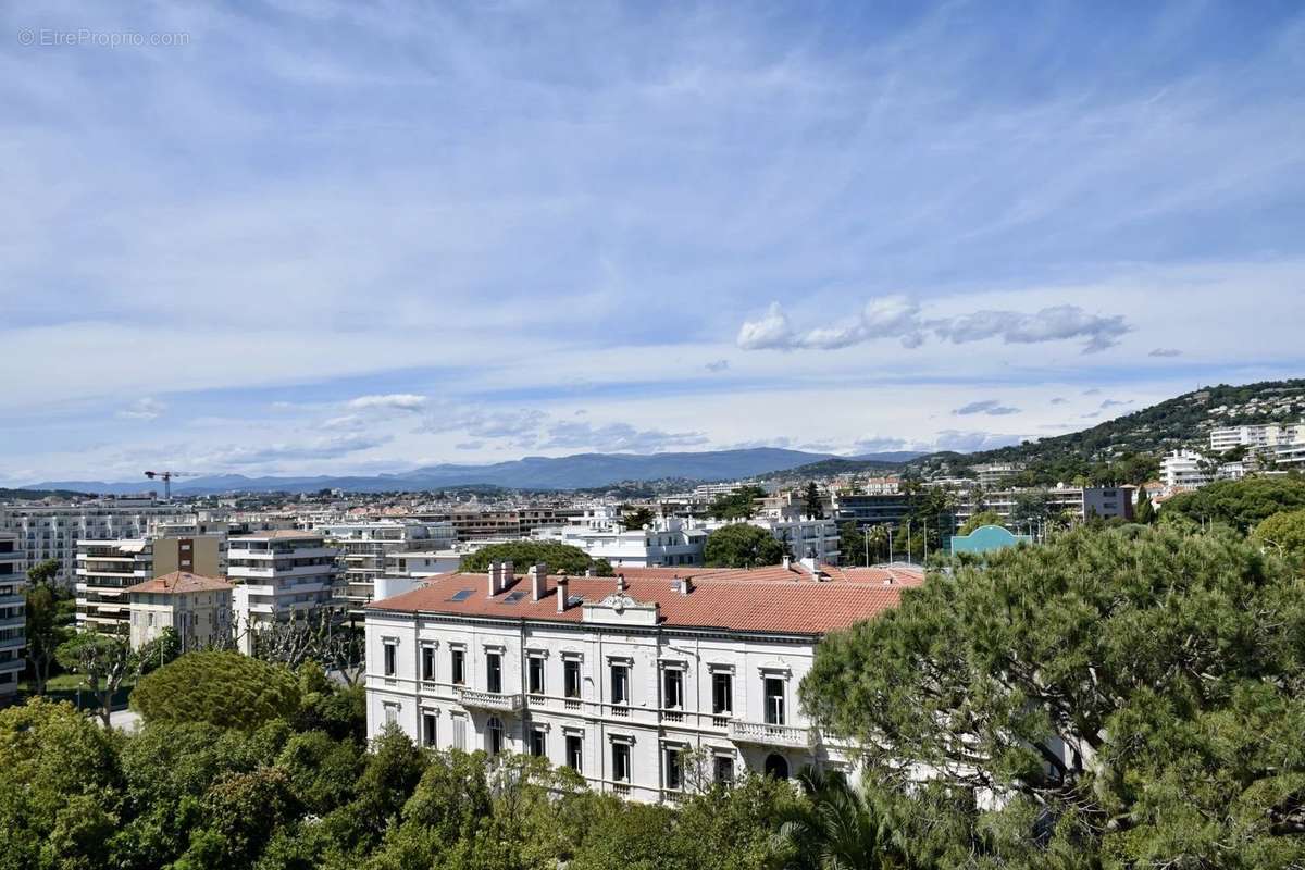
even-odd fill
[{"label": "large white mansion with red tile roof and chimneys", "polygon": [[638,801],[707,776],[847,759],[797,703],[816,644],[898,603],[917,573],[786,563],[619,578],[448,574],[367,610],[368,732],[512,750]]}]

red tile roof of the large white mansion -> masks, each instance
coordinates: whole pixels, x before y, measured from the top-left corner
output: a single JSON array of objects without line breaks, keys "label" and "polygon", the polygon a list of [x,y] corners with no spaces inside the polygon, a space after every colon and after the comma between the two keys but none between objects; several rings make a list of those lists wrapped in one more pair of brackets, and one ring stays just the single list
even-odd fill
[{"label": "red tile roof of the large white mansion", "polygon": [[[902,590],[908,584],[878,582],[814,582],[793,578],[769,579],[775,570],[731,571],[711,570],[694,574],[693,591],[681,595],[672,587],[675,570],[632,569],[622,571],[626,595],[645,604],[660,605],[662,625],[667,627],[727,629],[735,631],[774,631],[783,634],[821,635],[869,620],[897,607]],[[652,573],[656,575],[652,575]],[[680,577],[689,571],[679,571]],[[805,574],[805,573],[804,573]],[[810,578],[809,574],[805,574]],[[582,596],[586,603],[602,601],[616,592],[616,578],[568,578],[568,597]],[[453,596],[462,590],[470,595],[461,601]],[[446,616],[493,617],[506,620],[539,620],[581,622],[579,604],[557,612],[557,578],[549,577],[544,596],[530,599],[530,578],[517,575],[506,590],[488,597],[484,574],[442,574],[429,579],[419,590],[375,601],[369,610],[406,613],[438,613]],[[513,592],[525,592],[513,603],[506,599]]]}]

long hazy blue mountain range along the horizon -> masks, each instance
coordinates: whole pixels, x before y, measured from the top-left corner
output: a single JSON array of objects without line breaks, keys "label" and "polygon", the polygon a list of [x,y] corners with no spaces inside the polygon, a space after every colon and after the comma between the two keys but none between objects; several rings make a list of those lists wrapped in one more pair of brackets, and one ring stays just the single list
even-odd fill
[{"label": "long hazy blue mountain range along the horizon", "polygon": [[[241,475],[188,477],[172,481],[172,492],[179,494],[224,492],[300,493],[318,489],[415,492],[471,485],[493,485],[508,489],[592,489],[617,481],[649,481],[668,477],[699,481],[739,480],[834,458],[833,454],[780,450],[778,447],[656,453],[649,455],[585,453],[559,458],[526,457],[512,462],[484,466],[428,466],[397,475],[368,477],[244,477]],[[869,460],[869,458],[863,458],[863,460]],[[124,483],[77,480],[33,484],[31,488],[130,494],[151,489],[157,490],[161,487],[158,483],[150,480]]]}]

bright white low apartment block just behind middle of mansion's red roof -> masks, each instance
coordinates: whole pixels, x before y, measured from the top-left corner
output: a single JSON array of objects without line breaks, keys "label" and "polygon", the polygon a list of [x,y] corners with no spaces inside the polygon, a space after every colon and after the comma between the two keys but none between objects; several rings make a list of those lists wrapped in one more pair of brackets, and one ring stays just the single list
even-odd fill
[{"label": "bright white low apartment block just behind middle of mansion's red roof", "polygon": [[561,527],[540,528],[536,537],[577,547],[613,567],[702,565],[707,527],[693,519],[658,518],[645,528],[628,528],[615,507],[585,511]]}]

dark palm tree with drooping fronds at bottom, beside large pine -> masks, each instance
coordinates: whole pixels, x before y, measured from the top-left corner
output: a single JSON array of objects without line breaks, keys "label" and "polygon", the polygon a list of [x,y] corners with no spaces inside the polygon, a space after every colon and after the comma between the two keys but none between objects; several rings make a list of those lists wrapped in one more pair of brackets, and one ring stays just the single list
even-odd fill
[{"label": "dark palm tree with drooping fronds at bottom, beside large pine", "polygon": [[797,775],[806,805],[780,817],[771,847],[784,870],[873,870],[897,862],[883,849],[883,831],[863,789],[839,772],[812,768]]}]

